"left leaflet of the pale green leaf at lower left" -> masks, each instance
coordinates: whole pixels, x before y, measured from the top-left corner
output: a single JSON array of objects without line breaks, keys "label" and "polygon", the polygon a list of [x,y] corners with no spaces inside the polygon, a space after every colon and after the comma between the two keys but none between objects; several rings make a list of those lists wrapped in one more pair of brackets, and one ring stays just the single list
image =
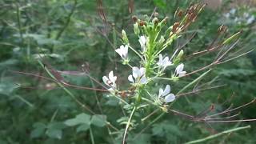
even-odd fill
[{"label": "left leaflet of the pale green leaf at lower left", "polygon": [[90,115],[88,114],[78,114],[75,118],[71,118],[64,122],[67,126],[76,126],[78,124],[90,125]]}]

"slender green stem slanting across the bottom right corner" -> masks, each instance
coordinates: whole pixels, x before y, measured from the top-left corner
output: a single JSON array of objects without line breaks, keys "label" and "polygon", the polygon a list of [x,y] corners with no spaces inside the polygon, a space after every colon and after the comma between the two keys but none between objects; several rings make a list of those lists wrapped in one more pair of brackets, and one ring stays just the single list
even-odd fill
[{"label": "slender green stem slanting across the bottom right corner", "polygon": [[205,142],[207,140],[210,140],[210,139],[213,139],[213,138],[217,138],[217,137],[225,135],[225,134],[230,134],[230,133],[232,133],[234,131],[245,130],[245,129],[250,129],[250,126],[237,127],[237,128],[231,129],[231,130],[222,131],[221,133],[210,135],[209,137],[206,137],[206,138],[201,138],[201,139],[198,139],[198,140],[186,142],[186,144]]}]

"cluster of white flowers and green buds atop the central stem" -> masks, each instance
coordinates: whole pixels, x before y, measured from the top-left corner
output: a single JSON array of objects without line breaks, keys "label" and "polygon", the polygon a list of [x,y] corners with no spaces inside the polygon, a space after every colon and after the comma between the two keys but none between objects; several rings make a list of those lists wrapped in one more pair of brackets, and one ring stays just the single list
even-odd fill
[{"label": "cluster of white flowers and green buds atop the central stem", "polygon": [[[151,96],[150,92],[147,91],[150,90],[147,89],[149,88],[148,84],[154,82],[154,78],[161,79],[161,76],[165,74],[165,71],[167,71],[167,67],[170,67],[170,69],[168,70],[174,70],[172,78],[170,78],[170,80],[173,80],[174,82],[176,82],[178,78],[183,77],[186,74],[186,71],[183,70],[184,64],[179,63],[182,59],[183,50],[180,50],[177,55],[176,53],[178,51],[175,51],[171,58],[165,54],[162,54],[163,50],[165,50],[166,47],[169,46],[175,38],[177,38],[174,33],[178,33],[178,27],[175,26],[175,30],[172,30],[170,32],[169,38],[165,40],[165,38],[161,36],[158,39],[158,34],[156,33],[156,31],[161,30],[161,27],[162,25],[164,25],[165,22],[166,18],[159,23],[158,20],[154,18],[154,22],[152,21],[151,23],[147,23],[147,25],[145,25],[144,27],[143,22],[140,22],[139,24],[137,22],[134,24],[134,33],[138,36],[140,49],[134,48],[130,45],[129,38],[126,36],[125,30],[122,30],[123,45],[119,46],[118,49],[115,50],[115,52],[122,58],[122,62],[124,65],[130,66],[132,74],[128,76],[128,81],[130,82],[130,85],[132,85],[131,87],[136,90],[136,93],[146,91],[147,94]],[[147,26],[153,26],[154,31],[150,31],[152,30],[150,28],[146,29]],[[140,27],[142,28],[142,30],[139,30]],[[129,58],[128,56],[129,49],[137,54],[139,58],[141,58],[140,62],[138,62],[139,66],[132,66],[133,64],[130,63],[133,58]],[[156,61],[157,58],[158,61]],[[178,66],[174,68],[176,64],[178,64]],[[106,86],[108,86],[108,90],[110,92],[118,92],[112,94],[121,94],[121,92],[124,91],[118,90],[116,86],[117,77],[114,76],[113,71],[110,71],[108,77],[104,76],[102,79]],[[144,88],[146,89],[144,90]],[[130,92],[130,89],[125,91]],[[136,96],[143,97],[145,99],[147,98],[147,96],[144,94],[130,93],[129,95],[131,95],[131,97]],[[158,102],[158,104],[162,105],[173,102],[175,99],[175,95],[170,93],[170,85],[166,85],[164,90],[162,88],[159,88],[158,94],[154,94],[154,97],[150,98],[154,98],[154,102]]]}]

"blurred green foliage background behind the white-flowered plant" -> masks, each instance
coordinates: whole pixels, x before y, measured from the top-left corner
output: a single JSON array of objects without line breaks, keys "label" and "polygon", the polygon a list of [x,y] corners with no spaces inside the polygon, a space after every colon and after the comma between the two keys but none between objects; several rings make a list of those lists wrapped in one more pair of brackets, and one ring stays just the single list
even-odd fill
[{"label": "blurred green foliage background behind the white-flowered plant", "polygon": [[[46,58],[56,70],[86,69],[99,82],[103,75],[114,70],[118,77],[125,77],[119,83],[126,83],[126,75],[130,74],[130,69],[122,66],[114,49],[122,44],[120,35],[123,29],[131,42],[138,43],[133,34],[131,17],[136,15],[143,18],[144,14],[150,15],[155,9],[159,18],[169,17],[167,24],[171,26],[175,22],[174,13],[177,8],[186,10],[194,2],[202,1],[0,0],[0,143],[90,143],[89,130],[77,130],[63,124],[66,119],[87,112],[54,82],[21,73],[49,77],[38,63],[38,58]],[[184,47],[185,55],[204,50],[216,37],[218,27],[225,25],[229,35],[242,30],[241,39],[236,46],[238,49],[254,49],[256,1],[205,2],[208,3],[206,9],[172,47],[182,45],[196,32]],[[206,65],[215,56],[210,54],[192,58],[187,62],[186,71]],[[21,73],[18,74],[17,71]],[[200,74],[182,82],[191,81],[198,75]],[[62,77],[66,82],[78,86],[96,85],[86,75],[62,74]],[[222,87],[193,94],[189,97],[189,104],[181,101],[174,107],[189,114],[198,114],[210,104],[214,104],[217,110],[226,110],[231,104],[241,106],[252,101],[256,94],[256,53],[253,51],[215,67],[206,82],[213,79],[216,86]],[[178,87],[181,86],[176,89]],[[103,111],[102,114],[106,115],[108,121],[123,128],[117,121],[122,115],[122,109],[116,100],[93,90],[69,90],[96,114]],[[102,110],[97,107],[96,96]],[[239,111],[241,114],[238,118],[256,118],[255,104]],[[138,126],[138,130],[130,135],[138,134],[147,123]],[[138,140],[128,143],[184,143],[205,138],[213,134],[212,130],[220,132],[247,125],[252,128],[207,143],[256,143],[255,122],[206,124],[168,115],[143,131]],[[92,130],[95,143],[120,143],[122,138],[122,134],[109,134],[106,126],[93,126]]]}]

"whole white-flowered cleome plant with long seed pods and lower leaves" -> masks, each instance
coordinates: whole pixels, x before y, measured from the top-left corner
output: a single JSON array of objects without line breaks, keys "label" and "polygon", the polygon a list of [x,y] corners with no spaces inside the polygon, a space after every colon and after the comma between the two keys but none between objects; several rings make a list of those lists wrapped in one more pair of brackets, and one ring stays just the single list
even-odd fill
[{"label": "whole white-flowered cleome plant with long seed pods and lower leaves", "polygon": [[[72,85],[62,78],[62,73],[65,72],[54,70],[48,62],[39,59],[38,62],[51,77],[46,79],[56,82],[79,106],[82,106],[82,108],[87,110],[90,114],[93,114],[92,117],[89,114],[79,114],[76,118],[66,120],[64,122],[66,126],[79,125],[77,131],[90,130],[92,143],[94,143],[94,134],[92,133],[90,125],[99,127],[106,126],[111,137],[115,136],[114,142],[122,142],[122,144],[125,144],[135,143],[143,131],[149,126],[152,126],[159,118],[163,118],[165,114],[177,115],[193,122],[204,122],[206,124],[211,122],[255,121],[256,119],[238,119],[238,114],[233,114],[235,110],[252,104],[254,100],[242,106],[234,108],[230,106],[226,110],[217,112],[214,111],[214,105],[211,105],[207,110],[202,110],[202,112],[197,115],[186,114],[183,113],[182,110],[174,109],[174,103],[182,98],[189,101],[186,95],[196,94],[204,90],[219,87],[198,86],[197,89],[188,91],[192,86],[198,85],[207,74],[210,74],[215,66],[230,62],[252,51],[245,51],[244,49],[236,50],[235,45],[238,43],[239,35],[242,31],[238,31],[236,34],[229,36],[226,26],[220,26],[218,28],[217,38],[215,38],[205,50],[194,51],[190,54],[186,52],[184,46],[194,38],[194,34],[192,34],[188,42],[174,48],[174,42],[186,33],[187,28],[196,21],[198,14],[201,13],[205,6],[205,4],[199,3],[189,6],[187,10],[176,10],[174,14],[175,22],[171,26],[167,24],[168,18],[160,19],[159,14],[155,10],[153,14],[145,16],[144,18],[134,16],[132,18],[134,21],[134,34],[128,35],[125,30],[122,30],[122,45],[114,50],[115,53],[118,54],[122,65],[129,68],[129,74],[127,74],[125,78],[119,77],[115,70],[110,70],[102,77],[102,84],[102,82],[98,82],[96,78],[90,77],[90,74],[84,70],[83,74],[104,89]],[[136,36],[137,43],[130,41],[130,35]],[[186,69],[186,63],[188,63],[191,58],[199,58],[206,54],[214,54],[215,58],[213,58],[212,62],[206,65],[202,64],[203,66],[199,67],[197,70],[190,71]],[[133,57],[131,55],[133,55]],[[26,74],[22,72],[19,73]],[[70,73],[71,72],[69,72],[69,74]],[[194,74],[198,74],[199,76],[197,78],[191,77]],[[186,78],[187,81],[190,82],[180,87],[184,84],[182,80]],[[122,80],[122,82],[118,82],[118,80]],[[179,87],[177,88],[176,86]],[[119,126],[114,126],[114,122],[108,121],[106,115],[96,114],[93,110],[90,110],[90,107],[80,102],[66,87],[101,91],[104,92],[103,96],[106,96],[106,98],[116,98],[118,105],[122,108],[122,113],[125,115],[116,120]],[[153,115],[157,113],[158,116],[152,118]],[[146,116],[144,116],[145,114]],[[90,122],[86,123],[86,121]],[[146,121],[150,122],[148,122],[149,124],[147,126],[144,126]],[[250,128],[250,126],[238,127],[218,134],[214,133],[214,135],[210,137],[187,143],[204,142],[222,134],[230,134],[236,130],[247,128]],[[135,130],[136,133],[133,133],[133,130]]]}]

